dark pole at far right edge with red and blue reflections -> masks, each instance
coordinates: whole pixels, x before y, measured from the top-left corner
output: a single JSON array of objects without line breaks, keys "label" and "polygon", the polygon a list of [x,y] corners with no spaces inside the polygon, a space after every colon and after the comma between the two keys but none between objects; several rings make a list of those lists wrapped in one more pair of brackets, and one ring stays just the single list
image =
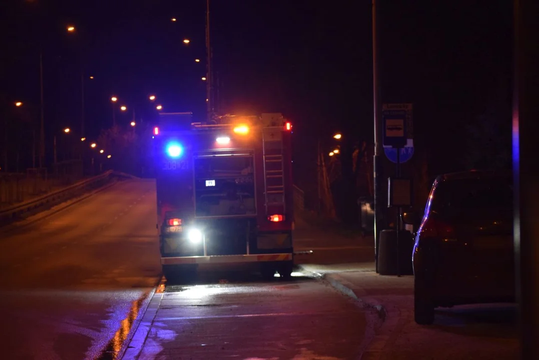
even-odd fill
[{"label": "dark pole at far right edge with red and blue reflections", "polygon": [[521,359],[539,359],[539,3],[514,0],[514,245]]}]

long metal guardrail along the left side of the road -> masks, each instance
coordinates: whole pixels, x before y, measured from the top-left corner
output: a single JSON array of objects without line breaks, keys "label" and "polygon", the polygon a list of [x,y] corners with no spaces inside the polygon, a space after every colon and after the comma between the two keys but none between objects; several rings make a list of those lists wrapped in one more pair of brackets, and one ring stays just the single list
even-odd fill
[{"label": "long metal guardrail along the left side of the road", "polygon": [[17,220],[39,213],[40,211],[51,208],[61,202],[72,199],[75,196],[86,193],[90,190],[99,188],[111,179],[113,174],[112,170],[109,170],[96,177],[82,180],[71,186],[67,186],[63,189],[55,192],[37,197],[29,201],[25,201],[20,204],[13,205],[8,208],[0,210],[0,226],[6,225]]}]

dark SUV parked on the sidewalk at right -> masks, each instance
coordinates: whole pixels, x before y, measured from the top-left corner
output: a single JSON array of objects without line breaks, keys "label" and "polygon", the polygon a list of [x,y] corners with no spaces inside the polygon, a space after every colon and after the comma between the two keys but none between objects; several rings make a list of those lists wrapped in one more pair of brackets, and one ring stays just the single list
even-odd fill
[{"label": "dark SUV parked on the sidewalk at right", "polygon": [[[412,213],[402,217],[414,222]],[[510,173],[440,175],[420,221],[412,262],[418,324],[431,324],[437,306],[514,302]]]}]

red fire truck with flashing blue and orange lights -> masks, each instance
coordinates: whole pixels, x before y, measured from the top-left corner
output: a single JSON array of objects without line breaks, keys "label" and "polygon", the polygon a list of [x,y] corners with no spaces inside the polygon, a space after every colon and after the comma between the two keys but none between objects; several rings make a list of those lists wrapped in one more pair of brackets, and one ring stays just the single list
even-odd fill
[{"label": "red fire truck with flashing blue and orange lights", "polygon": [[[157,229],[167,279],[251,264],[291,276],[292,125],[282,114],[160,114],[154,128]],[[252,267],[251,266],[251,267]]]}]

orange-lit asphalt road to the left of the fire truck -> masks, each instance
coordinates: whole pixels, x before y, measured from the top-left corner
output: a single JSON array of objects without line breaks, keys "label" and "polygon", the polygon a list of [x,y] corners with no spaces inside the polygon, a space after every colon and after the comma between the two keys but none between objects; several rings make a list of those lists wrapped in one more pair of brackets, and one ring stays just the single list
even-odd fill
[{"label": "orange-lit asphalt road to the left of the fire truck", "polygon": [[155,183],[129,180],[0,230],[2,358],[114,358],[160,278],[155,223]]}]

